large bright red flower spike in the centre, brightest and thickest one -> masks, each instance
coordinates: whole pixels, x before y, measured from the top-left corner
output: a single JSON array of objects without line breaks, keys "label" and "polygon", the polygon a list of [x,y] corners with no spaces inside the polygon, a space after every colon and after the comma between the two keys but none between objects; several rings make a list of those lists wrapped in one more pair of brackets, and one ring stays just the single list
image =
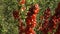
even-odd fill
[{"label": "large bright red flower spike in the centre, brightest and thickest one", "polygon": [[36,34],[33,30],[33,28],[36,27],[36,15],[39,12],[38,11],[38,5],[35,4],[30,7],[29,12],[27,13],[27,18],[26,18],[26,34]]}]

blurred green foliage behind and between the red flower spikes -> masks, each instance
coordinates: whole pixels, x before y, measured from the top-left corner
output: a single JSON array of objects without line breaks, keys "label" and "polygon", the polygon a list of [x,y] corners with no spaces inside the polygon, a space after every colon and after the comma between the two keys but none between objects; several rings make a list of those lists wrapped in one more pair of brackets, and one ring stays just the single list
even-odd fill
[{"label": "blurred green foliage behind and between the red flower spikes", "polygon": [[[57,3],[60,0],[26,0],[25,11],[19,11],[21,13],[21,18],[23,23],[25,23],[26,13],[29,10],[29,6],[32,3],[38,3],[40,7],[40,12],[37,15],[37,23],[41,22],[39,17],[43,15],[44,10],[47,7],[51,9],[51,15],[54,14],[54,10],[57,6]],[[19,9],[17,0],[0,0],[0,34],[18,34],[18,21],[14,20],[12,12],[14,9]],[[40,31],[36,31],[36,34],[40,34]]]}]

